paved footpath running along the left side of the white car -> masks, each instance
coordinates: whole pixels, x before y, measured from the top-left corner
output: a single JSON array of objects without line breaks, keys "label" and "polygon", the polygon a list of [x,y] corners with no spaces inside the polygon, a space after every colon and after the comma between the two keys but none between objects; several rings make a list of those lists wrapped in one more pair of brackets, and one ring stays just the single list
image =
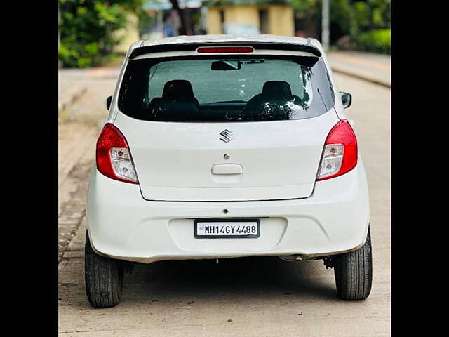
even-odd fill
[{"label": "paved footpath running along the left side of the white car", "polygon": [[[114,93],[118,72],[117,67],[60,70],[60,99],[70,102],[60,112],[58,123],[60,260],[86,212],[87,178],[100,126],[107,117],[106,98]],[[83,93],[73,98],[73,93],[80,90]]]}]

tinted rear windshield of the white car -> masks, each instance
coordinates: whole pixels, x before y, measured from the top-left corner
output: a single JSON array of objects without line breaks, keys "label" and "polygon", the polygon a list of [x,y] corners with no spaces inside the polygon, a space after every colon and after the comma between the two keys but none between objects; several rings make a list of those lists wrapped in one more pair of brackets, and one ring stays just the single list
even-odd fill
[{"label": "tinted rear windshield of the white car", "polygon": [[323,60],[305,56],[130,60],[119,93],[119,110],[145,121],[306,119],[334,102]]}]

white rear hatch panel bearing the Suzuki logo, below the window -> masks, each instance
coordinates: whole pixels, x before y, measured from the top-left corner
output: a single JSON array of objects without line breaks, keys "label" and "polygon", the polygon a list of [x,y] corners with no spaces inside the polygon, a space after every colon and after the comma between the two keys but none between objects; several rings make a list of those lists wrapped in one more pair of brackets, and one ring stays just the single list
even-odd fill
[{"label": "white rear hatch panel bearing the Suzuki logo, below the window", "polygon": [[118,114],[142,196],[158,201],[309,197],[335,111],[243,123],[140,121]]}]

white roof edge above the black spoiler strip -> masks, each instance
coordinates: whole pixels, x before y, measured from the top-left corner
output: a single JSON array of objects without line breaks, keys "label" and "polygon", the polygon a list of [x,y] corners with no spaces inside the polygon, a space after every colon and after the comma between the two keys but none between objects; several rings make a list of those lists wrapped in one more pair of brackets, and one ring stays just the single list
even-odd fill
[{"label": "white roof edge above the black spoiler strip", "polygon": [[323,48],[318,40],[304,37],[282,37],[272,34],[206,34],[206,35],[180,35],[178,37],[166,37],[156,40],[140,40],[130,46],[128,55],[130,55],[135,48],[141,47],[157,47],[157,46],[175,46],[186,44],[279,44],[279,45],[298,45],[298,46],[312,46],[318,49],[321,53]]}]

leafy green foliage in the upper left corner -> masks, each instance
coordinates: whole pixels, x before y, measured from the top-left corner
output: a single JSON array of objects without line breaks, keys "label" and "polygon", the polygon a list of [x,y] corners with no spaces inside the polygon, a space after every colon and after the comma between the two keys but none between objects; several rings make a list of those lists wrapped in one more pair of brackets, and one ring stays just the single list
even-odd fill
[{"label": "leafy green foliage in the upper left corner", "polygon": [[60,46],[63,67],[91,67],[110,55],[126,27],[129,13],[140,9],[142,0],[59,0]]}]

